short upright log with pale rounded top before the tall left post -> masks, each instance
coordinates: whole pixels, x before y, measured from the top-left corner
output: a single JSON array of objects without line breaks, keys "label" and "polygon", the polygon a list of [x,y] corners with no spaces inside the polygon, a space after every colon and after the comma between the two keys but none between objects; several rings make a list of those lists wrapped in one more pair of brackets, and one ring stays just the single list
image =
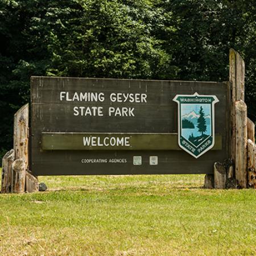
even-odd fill
[{"label": "short upright log with pale rounded top before the tall left post", "polygon": [[25,191],[26,181],[26,163],[24,159],[20,158],[13,162],[14,171],[14,193],[22,193]]}]

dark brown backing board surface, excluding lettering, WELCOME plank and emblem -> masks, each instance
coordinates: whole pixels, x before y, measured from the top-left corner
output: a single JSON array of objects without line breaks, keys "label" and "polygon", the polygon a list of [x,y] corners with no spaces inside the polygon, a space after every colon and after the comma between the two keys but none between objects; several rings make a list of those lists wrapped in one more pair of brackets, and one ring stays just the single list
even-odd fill
[{"label": "dark brown backing board surface, excluding lettering, WELCOME plank and emblem", "polygon": [[[134,108],[134,117],[75,116],[74,106],[94,106],[95,102],[61,102],[61,91],[104,92],[100,106]],[[147,104],[110,102],[110,93],[146,93]],[[221,136],[221,150],[210,150],[199,159],[182,150],[42,150],[42,133],[177,133],[176,94],[216,95],[215,133]],[[99,102],[97,102],[97,105]],[[72,79],[31,77],[31,170],[34,175],[104,174],[212,174],[213,163],[228,158],[229,133],[227,85],[225,82],[154,81],[114,79]],[[227,125],[226,125],[227,124]],[[93,152],[92,152],[93,151]],[[142,165],[133,156],[142,156]],[[150,165],[158,156],[158,165]],[[106,163],[82,163],[83,159],[105,159]],[[125,159],[125,163],[113,159]],[[113,161],[112,161],[113,160]]]}]

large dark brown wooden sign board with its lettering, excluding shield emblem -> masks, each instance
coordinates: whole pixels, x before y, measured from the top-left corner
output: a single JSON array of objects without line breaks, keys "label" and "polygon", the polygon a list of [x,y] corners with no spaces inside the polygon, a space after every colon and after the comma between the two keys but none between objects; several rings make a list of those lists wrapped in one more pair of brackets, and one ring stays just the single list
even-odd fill
[{"label": "large dark brown wooden sign board with its lettering, excluding shield emblem", "polygon": [[[178,144],[177,94],[214,95],[215,144]],[[228,82],[31,77],[34,175],[212,174],[229,156]]]}]

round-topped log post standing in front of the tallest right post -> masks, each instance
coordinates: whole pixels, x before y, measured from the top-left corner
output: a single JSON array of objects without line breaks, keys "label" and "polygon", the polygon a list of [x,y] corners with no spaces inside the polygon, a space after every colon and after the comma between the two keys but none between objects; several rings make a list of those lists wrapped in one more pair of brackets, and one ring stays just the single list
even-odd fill
[{"label": "round-topped log post standing in front of the tallest right post", "polygon": [[236,102],[236,179],[241,188],[247,187],[247,107]]}]

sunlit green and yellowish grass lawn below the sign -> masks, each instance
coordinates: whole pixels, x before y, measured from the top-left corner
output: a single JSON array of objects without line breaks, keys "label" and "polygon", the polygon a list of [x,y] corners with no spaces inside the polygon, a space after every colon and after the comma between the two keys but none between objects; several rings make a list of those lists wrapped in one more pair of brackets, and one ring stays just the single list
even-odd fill
[{"label": "sunlit green and yellowish grass lawn below the sign", "polygon": [[256,255],[256,191],[203,175],[48,176],[0,195],[0,255]]}]

